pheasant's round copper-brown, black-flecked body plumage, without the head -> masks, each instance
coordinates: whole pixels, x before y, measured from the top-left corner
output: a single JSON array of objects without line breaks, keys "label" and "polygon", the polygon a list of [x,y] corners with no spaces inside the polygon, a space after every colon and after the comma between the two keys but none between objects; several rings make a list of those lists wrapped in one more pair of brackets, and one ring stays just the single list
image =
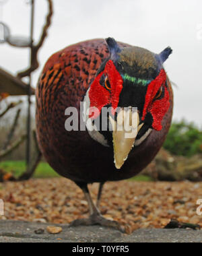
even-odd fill
[{"label": "pheasant's round copper-brown, black-flecked body plumage, without the head", "polygon": [[[120,49],[130,47],[123,43],[118,45]],[[107,46],[102,39],[88,40],[63,49],[46,63],[36,90],[36,127],[40,149],[50,166],[62,176],[75,181],[87,193],[94,216],[97,210],[88,198],[86,184],[119,181],[139,173],[160,150],[172,119],[172,88],[166,77],[170,106],[162,120],[162,129],[153,129],[139,146],[133,148],[119,172],[114,166],[112,147],[104,147],[92,139],[88,131],[65,130],[65,109],[76,107],[80,115],[80,102],[104,60],[112,56],[112,51],[110,42]],[[90,222],[94,223],[102,223],[102,220]]]}]

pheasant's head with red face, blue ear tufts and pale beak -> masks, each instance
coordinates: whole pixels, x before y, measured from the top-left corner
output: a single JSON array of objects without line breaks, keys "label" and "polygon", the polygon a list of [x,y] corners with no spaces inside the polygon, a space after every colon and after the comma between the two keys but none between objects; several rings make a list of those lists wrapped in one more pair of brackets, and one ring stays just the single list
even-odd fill
[{"label": "pheasant's head with red face, blue ear tufts and pale beak", "polygon": [[106,42],[110,56],[86,94],[90,109],[86,119],[97,128],[91,131],[87,126],[93,139],[113,148],[114,163],[120,169],[134,146],[139,146],[152,129],[162,129],[170,108],[163,63],[172,49],[155,54],[136,46],[121,48],[113,38]]}]

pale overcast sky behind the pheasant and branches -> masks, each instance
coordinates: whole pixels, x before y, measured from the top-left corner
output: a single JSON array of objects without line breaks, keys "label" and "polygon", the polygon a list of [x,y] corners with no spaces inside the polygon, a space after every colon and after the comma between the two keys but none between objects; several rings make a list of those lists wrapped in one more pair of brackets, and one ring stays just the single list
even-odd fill
[{"label": "pale overcast sky behind the pheasant and branches", "polygon": [[[1,0],[2,1],[2,0]],[[0,3],[1,3],[0,1]],[[36,1],[34,38],[37,41],[47,11],[46,0]],[[11,35],[28,36],[28,0],[7,0],[3,20]],[[116,40],[160,53],[171,46],[165,67],[174,88],[174,119],[186,118],[202,127],[202,1],[201,0],[53,0],[55,14],[40,50],[40,69],[50,55],[69,44],[91,38]],[[0,10],[1,13],[1,10]],[[28,50],[0,44],[0,66],[15,74],[28,65]]]}]

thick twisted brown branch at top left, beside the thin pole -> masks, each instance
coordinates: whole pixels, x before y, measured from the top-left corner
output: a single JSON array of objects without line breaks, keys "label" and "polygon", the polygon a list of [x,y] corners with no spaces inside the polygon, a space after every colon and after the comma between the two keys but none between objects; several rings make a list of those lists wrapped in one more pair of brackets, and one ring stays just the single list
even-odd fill
[{"label": "thick twisted brown branch at top left, beside the thin pole", "polygon": [[38,44],[36,44],[35,46],[32,46],[31,67],[26,69],[25,71],[18,73],[19,78],[29,76],[30,73],[32,73],[34,70],[36,70],[39,66],[38,50],[41,48],[41,46],[44,43],[44,40],[48,34],[48,28],[50,27],[51,18],[53,16],[53,2],[52,2],[52,0],[47,0],[47,1],[48,1],[48,15],[46,16],[46,24],[44,25],[44,28],[42,30],[42,35],[40,37]]}]

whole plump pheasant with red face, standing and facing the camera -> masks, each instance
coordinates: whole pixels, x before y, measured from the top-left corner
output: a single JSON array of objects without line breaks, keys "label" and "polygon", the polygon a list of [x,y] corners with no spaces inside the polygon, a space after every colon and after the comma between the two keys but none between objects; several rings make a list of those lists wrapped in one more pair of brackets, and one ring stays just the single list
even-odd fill
[{"label": "whole plump pheasant with red face, standing and facing the camera", "polygon": [[[36,130],[50,166],[86,195],[90,217],[71,226],[119,228],[98,210],[102,188],[134,177],[162,147],[172,121],[172,87],[163,67],[171,53],[170,47],[155,54],[107,38],[73,44],[48,59],[36,90]],[[77,110],[73,119],[69,109]],[[96,204],[90,183],[100,183]]]}]

